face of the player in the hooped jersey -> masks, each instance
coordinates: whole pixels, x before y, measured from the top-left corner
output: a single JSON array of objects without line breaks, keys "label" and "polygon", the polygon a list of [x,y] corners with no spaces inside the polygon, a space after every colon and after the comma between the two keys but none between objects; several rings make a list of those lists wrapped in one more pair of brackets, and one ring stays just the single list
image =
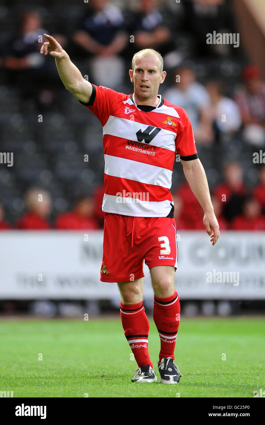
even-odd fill
[{"label": "face of the player in the hooped jersey", "polygon": [[158,93],[159,85],[165,79],[165,71],[160,72],[160,62],[156,55],[141,57],[138,55],[134,62],[134,71],[130,69],[131,82],[140,100],[151,99]]}]

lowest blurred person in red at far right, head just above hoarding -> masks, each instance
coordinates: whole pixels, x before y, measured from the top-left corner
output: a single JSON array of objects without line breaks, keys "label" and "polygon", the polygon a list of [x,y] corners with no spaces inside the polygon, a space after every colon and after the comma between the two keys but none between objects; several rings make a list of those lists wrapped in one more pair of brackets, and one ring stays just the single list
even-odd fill
[{"label": "lowest blurred person in red at far right, head just above hoarding", "polygon": [[243,214],[234,218],[233,230],[265,230],[265,216],[254,198],[247,199],[243,205]]}]

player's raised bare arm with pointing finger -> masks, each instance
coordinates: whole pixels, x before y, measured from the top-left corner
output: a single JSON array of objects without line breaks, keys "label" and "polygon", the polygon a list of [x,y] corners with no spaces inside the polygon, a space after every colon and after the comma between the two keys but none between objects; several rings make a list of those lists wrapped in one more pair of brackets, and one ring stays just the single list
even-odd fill
[{"label": "player's raised bare arm with pointing finger", "polygon": [[87,103],[92,94],[92,85],[86,81],[79,69],[71,62],[68,54],[63,50],[62,46],[51,35],[44,34],[48,42],[45,42],[40,53],[47,55],[48,53],[55,58],[56,66],[60,79],[63,84],[77,99]]}]

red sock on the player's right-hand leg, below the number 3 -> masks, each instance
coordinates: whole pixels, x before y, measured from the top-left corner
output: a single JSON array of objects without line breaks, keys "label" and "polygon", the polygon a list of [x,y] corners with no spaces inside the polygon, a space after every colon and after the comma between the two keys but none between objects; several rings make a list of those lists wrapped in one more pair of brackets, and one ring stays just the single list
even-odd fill
[{"label": "red sock on the player's right-hand leg, below the number 3", "polygon": [[171,297],[157,298],[154,296],[154,323],[160,336],[161,349],[159,361],[164,357],[172,357],[180,324],[180,300],[177,291]]}]

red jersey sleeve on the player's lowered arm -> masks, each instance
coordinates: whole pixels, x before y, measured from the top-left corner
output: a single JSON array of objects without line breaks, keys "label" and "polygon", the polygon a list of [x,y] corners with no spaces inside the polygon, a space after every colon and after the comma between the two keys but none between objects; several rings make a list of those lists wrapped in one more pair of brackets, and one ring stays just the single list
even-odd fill
[{"label": "red jersey sleeve on the player's lowered arm", "polygon": [[182,109],[180,117],[182,125],[176,137],[176,152],[183,161],[191,161],[192,159],[199,158],[192,126],[188,114],[184,109]]}]

